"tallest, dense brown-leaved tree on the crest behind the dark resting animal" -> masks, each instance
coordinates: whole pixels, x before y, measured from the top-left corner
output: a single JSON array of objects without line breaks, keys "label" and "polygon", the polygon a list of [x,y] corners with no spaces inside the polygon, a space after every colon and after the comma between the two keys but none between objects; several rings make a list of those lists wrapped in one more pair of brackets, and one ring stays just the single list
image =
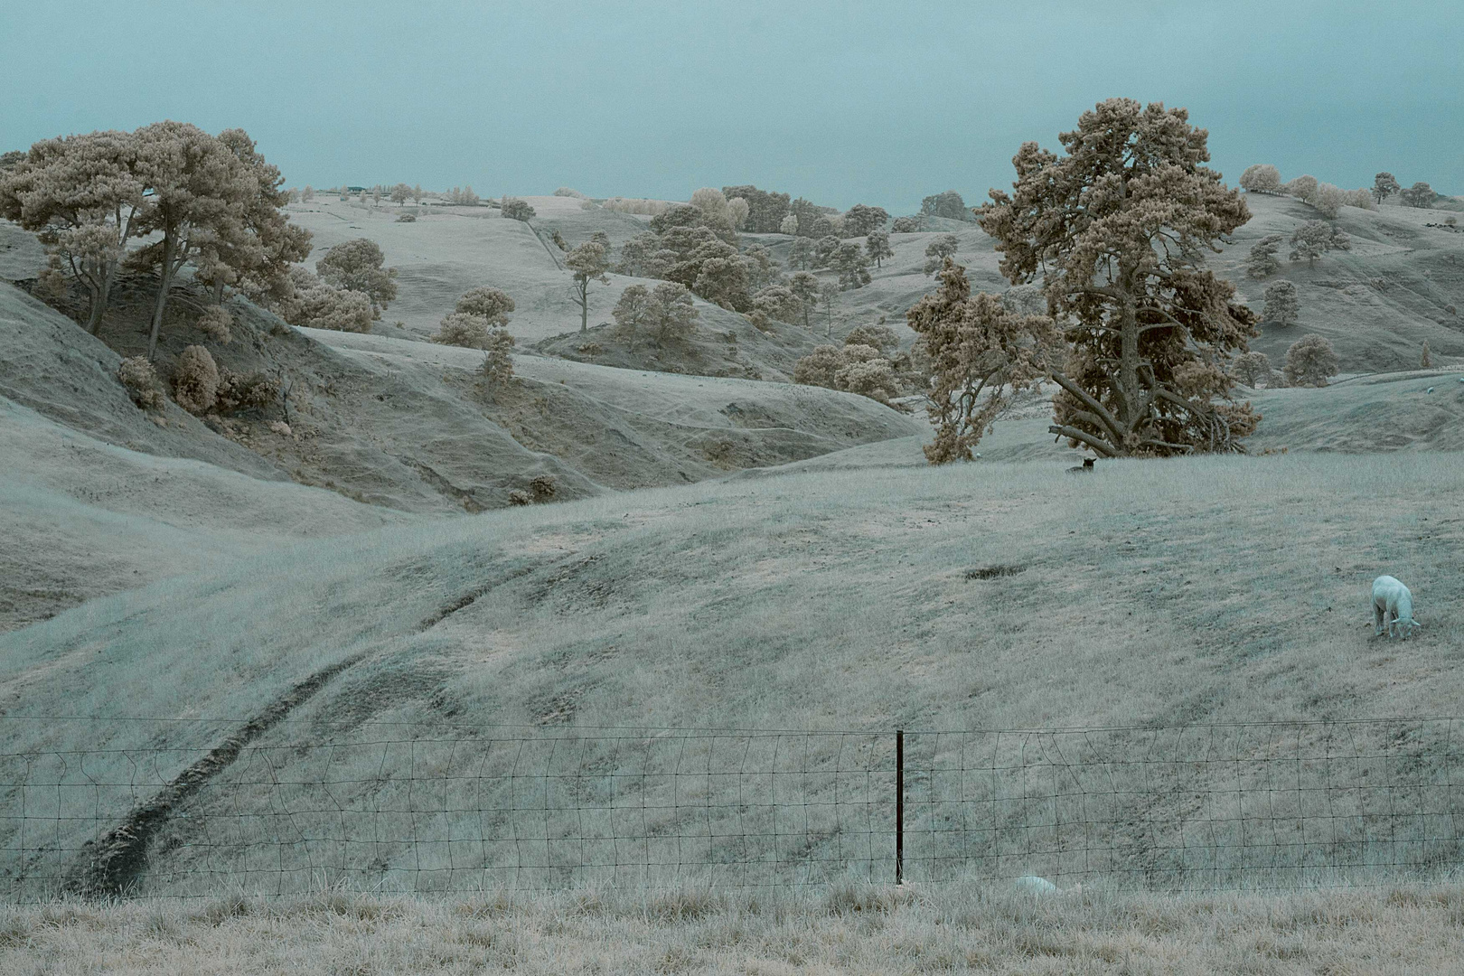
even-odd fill
[{"label": "tallest, dense brown-leaved tree on the crest behind the dark resting animal", "polygon": [[1023,143],[1013,193],[981,227],[1012,284],[1041,278],[1067,342],[1050,432],[1104,457],[1241,451],[1259,416],[1230,397],[1228,363],[1256,316],[1203,253],[1250,219],[1183,108],[1111,98],[1058,136]]}]

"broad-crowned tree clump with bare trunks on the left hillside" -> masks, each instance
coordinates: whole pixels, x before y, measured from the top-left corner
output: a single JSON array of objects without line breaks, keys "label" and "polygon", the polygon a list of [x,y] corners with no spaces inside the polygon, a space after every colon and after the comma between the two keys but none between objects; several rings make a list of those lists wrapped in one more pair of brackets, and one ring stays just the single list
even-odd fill
[{"label": "broad-crowned tree clump with bare trunks on the left hillside", "polygon": [[310,252],[310,234],[285,217],[280,170],[242,129],[212,136],[160,121],[44,139],[10,161],[0,173],[0,217],[40,236],[53,281],[86,294],[88,331],[123,269],[157,274],[149,360],[184,265],[220,303],[230,287],[284,288],[290,263]]}]

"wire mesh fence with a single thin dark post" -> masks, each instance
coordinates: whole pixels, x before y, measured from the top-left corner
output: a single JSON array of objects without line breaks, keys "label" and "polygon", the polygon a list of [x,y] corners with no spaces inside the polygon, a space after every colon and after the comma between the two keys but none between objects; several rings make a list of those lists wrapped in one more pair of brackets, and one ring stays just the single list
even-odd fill
[{"label": "wire mesh fence with a single thin dark post", "polygon": [[332,730],[0,717],[0,900],[1042,875],[1366,884],[1464,860],[1464,718]]}]

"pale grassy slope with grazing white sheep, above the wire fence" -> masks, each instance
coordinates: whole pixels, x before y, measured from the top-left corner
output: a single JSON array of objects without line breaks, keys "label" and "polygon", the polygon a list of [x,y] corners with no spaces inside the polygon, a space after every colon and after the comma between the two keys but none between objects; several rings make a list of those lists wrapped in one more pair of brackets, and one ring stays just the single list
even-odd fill
[{"label": "pale grassy slope with grazing white sheep, above the wire fence", "polygon": [[[161,784],[249,716],[272,716],[256,743],[272,749],[269,776],[287,781],[321,776],[326,755],[305,743],[378,735],[363,723],[452,739],[451,757],[447,743],[334,754],[332,803],[347,806],[410,802],[397,792],[432,770],[496,770],[495,735],[545,724],[589,732],[608,764],[597,768],[634,770],[640,739],[599,740],[594,726],[1451,714],[1464,638],[1448,615],[1464,596],[1461,492],[1464,467],[1438,452],[1116,462],[1083,477],[1045,461],[982,462],[704,483],[385,528],[165,579],[9,634],[0,713],[205,718],[7,721],[19,752],[105,740],[111,752],[92,755],[86,773],[123,783],[129,749],[177,749],[148,754],[158,764],[148,780]],[[1417,597],[1426,628],[1407,645],[1372,637],[1367,585],[1381,572]],[[300,698],[306,686],[313,697]],[[220,783],[253,776],[250,762]],[[488,790],[479,803],[520,802],[492,783],[477,787]],[[136,802],[85,793],[85,815],[100,817],[78,822],[88,837]],[[233,815],[233,796],[174,812]],[[1145,817],[1183,814],[1161,808]],[[473,809],[470,822],[413,830],[476,837],[486,828]],[[691,803],[681,817],[700,824],[703,814]],[[227,862],[228,852],[190,843],[190,822],[173,821],[151,884]],[[381,847],[381,863],[411,856],[398,847]]]}]

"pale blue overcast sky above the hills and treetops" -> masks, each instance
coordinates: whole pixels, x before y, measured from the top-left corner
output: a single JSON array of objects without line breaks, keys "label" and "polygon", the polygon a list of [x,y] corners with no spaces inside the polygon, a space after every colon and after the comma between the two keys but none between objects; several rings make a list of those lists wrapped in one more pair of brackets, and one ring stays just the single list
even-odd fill
[{"label": "pale blue overcast sky above the hills and treetops", "polygon": [[0,149],[242,126],[290,184],[911,212],[1012,181],[1094,102],[1184,105],[1228,181],[1464,190],[1464,3],[0,0]]}]

